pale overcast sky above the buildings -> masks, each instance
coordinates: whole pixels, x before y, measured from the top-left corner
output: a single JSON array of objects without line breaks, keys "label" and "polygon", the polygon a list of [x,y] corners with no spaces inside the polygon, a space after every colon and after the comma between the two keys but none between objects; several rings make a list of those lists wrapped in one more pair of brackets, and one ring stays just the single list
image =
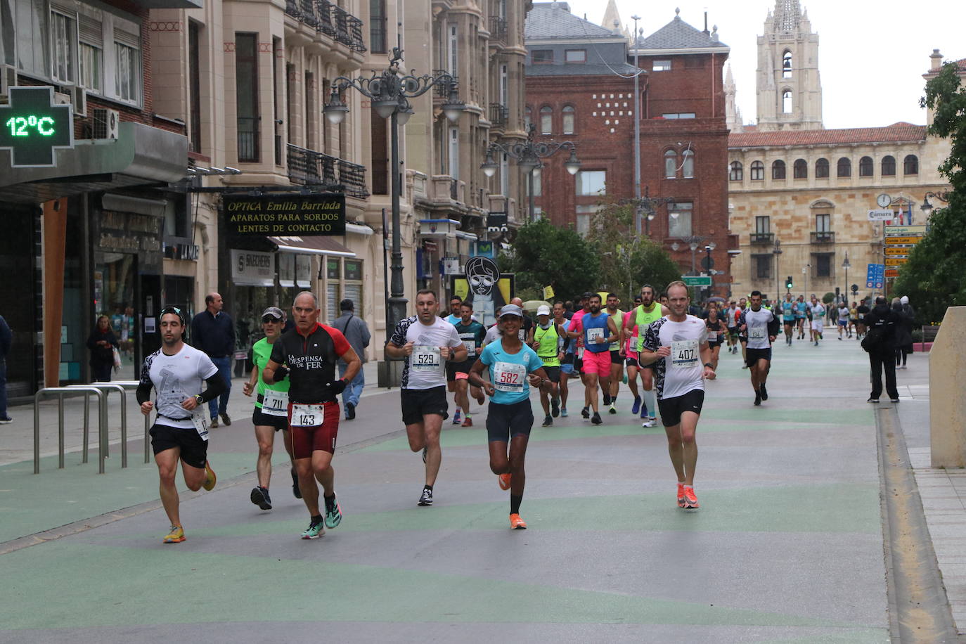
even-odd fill
[{"label": "pale overcast sky above the buildings", "polygon": [[[607,0],[569,0],[571,13],[597,24]],[[800,0],[811,29],[818,34],[818,70],[822,81],[822,117],[826,127],[888,126],[897,121],[925,125],[919,107],[929,69],[929,54],[939,49],[946,61],[966,58],[966,2],[947,0],[917,5],[869,0]],[[941,6],[941,7],[940,7]],[[737,87],[738,107],[745,123],[754,123],[756,37],[763,33],[775,0],[617,0],[629,29],[631,15],[649,36],[674,17],[697,29],[718,25],[730,48],[728,62]],[[922,10],[919,8],[922,7]],[[725,64],[727,65],[727,64]]]}]

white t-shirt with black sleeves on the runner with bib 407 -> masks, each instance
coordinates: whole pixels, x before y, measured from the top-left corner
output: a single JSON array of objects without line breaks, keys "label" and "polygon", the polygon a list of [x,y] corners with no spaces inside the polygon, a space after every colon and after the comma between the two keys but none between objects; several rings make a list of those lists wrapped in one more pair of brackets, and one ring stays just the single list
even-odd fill
[{"label": "white t-shirt with black sleeves on the runner with bib 407", "polygon": [[658,358],[654,363],[654,381],[659,400],[704,389],[704,364],[701,362],[700,349],[707,342],[707,327],[703,320],[695,316],[687,316],[684,322],[662,318],[648,325],[643,348],[649,351],[670,348],[668,357]]}]

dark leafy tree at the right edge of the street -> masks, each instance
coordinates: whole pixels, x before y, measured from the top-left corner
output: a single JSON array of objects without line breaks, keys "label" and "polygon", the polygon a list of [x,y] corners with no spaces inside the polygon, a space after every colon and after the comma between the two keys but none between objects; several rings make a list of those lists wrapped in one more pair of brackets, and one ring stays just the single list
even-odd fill
[{"label": "dark leafy tree at the right edge of the street", "polygon": [[895,294],[909,296],[922,322],[942,320],[947,307],[966,305],[966,88],[954,63],[926,83],[920,104],[934,113],[929,134],[952,143],[939,166],[952,184],[948,205],[932,212],[925,237],[899,269],[893,287]]}]

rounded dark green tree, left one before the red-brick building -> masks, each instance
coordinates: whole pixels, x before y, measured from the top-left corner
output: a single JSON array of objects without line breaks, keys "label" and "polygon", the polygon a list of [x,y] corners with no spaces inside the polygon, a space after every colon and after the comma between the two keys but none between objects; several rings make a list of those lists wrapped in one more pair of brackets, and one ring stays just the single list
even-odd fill
[{"label": "rounded dark green tree, left one before the red-brick building", "polygon": [[499,267],[516,274],[517,294],[526,300],[543,299],[545,286],[560,298],[596,291],[600,263],[574,229],[538,219],[517,231],[513,252],[500,255]]}]

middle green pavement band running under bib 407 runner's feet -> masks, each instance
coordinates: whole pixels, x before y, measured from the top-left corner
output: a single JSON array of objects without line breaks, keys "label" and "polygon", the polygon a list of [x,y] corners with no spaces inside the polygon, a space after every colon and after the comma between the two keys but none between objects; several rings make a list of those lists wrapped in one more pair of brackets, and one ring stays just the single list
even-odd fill
[{"label": "middle green pavement band running under bib 407 runner's feet", "polygon": [[[493,478],[497,493],[497,477]],[[503,492],[506,494],[506,492]],[[768,499],[768,508],[758,502]],[[698,490],[701,509],[677,507],[674,490],[668,493],[615,494],[565,498],[526,498],[522,514],[531,529],[573,532],[761,532],[761,533],[881,533],[878,485],[814,485]],[[345,518],[338,532],[384,532],[425,530],[509,529],[508,498],[494,503],[435,505],[432,510],[415,508],[353,514],[343,508]],[[606,523],[575,522],[575,517],[607,517]],[[159,529],[162,529],[160,526]],[[305,521],[240,521],[213,528],[185,527],[188,538],[238,537],[252,535],[298,535]],[[139,534],[155,540],[158,534]],[[130,539],[130,536],[112,539]]]}]

